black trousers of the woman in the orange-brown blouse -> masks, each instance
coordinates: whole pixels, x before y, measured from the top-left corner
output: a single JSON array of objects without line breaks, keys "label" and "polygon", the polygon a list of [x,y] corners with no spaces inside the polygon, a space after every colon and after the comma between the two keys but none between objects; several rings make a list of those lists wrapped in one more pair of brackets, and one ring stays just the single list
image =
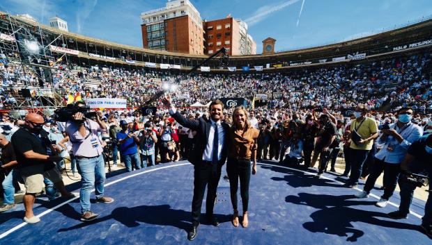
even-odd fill
[{"label": "black trousers of the woman in the orange-brown blouse", "polygon": [[249,206],[249,182],[251,179],[251,161],[228,159],[226,162],[226,174],[229,178],[229,189],[231,192],[231,204],[233,210],[237,210],[238,180],[240,178],[240,196],[242,197],[243,212]]}]

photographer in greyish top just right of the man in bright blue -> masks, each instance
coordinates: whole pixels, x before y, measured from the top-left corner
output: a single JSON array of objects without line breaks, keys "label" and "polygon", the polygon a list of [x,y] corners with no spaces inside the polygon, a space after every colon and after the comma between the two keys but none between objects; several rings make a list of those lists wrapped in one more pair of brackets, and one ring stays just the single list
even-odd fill
[{"label": "photographer in greyish top just right of the man in bright blue", "polygon": [[151,124],[146,122],[144,130],[139,133],[139,151],[141,153],[141,162],[143,167],[155,165],[155,144],[157,143],[156,133],[153,131]]}]

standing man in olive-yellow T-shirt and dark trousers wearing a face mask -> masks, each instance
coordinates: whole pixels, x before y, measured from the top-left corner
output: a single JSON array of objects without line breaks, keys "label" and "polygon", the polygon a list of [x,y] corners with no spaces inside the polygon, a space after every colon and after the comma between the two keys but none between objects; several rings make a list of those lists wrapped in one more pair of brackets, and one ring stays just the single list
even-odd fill
[{"label": "standing man in olive-yellow T-shirt and dark trousers wearing a face mask", "polygon": [[355,108],[355,120],[351,123],[350,163],[351,174],[346,187],[357,187],[358,180],[362,176],[362,167],[372,149],[373,140],[378,137],[376,121],[366,117],[367,108],[357,105]]}]

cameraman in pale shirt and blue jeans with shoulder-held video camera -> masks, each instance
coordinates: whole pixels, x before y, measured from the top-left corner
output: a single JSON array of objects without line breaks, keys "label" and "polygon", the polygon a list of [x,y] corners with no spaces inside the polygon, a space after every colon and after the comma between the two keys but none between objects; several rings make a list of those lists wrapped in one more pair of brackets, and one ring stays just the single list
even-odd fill
[{"label": "cameraman in pale shirt and blue jeans with shoulder-held video camera", "polygon": [[[85,106],[84,101],[77,101],[76,108]],[[76,112],[72,119],[66,122],[66,133],[72,142],[72,153],[77,158],[82,187],[79,191],[81,203],[81,221],[92,221],[99,214],[90,211],[90,194],[95,188],[96,202],[112,203],[113,198],[104,195],[105,162],[102,142],[98,133],[106,133],[107,125],[97,115],[95,121],[84,117],[84,113]]]}]

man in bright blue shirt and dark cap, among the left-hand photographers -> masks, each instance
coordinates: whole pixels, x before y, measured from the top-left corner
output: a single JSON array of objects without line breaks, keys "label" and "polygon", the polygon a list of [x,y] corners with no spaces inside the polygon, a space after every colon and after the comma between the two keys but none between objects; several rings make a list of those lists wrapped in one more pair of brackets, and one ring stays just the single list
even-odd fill
[{"label": "man in bright blue shirt and dark cap, among the left-hand photographers", "polygon": [[136,144],[139,143],[138,132],[132,132],[134,126],[132,122],[128,123],[121,120],[120,126],[121,130],[117,133],[118,149],[120,149],[120,155],[125,162],[126,169],[128,169],[128,172],[132,171],[132,166],[135,169],[141,169],[141,160],[139,159]]}]

